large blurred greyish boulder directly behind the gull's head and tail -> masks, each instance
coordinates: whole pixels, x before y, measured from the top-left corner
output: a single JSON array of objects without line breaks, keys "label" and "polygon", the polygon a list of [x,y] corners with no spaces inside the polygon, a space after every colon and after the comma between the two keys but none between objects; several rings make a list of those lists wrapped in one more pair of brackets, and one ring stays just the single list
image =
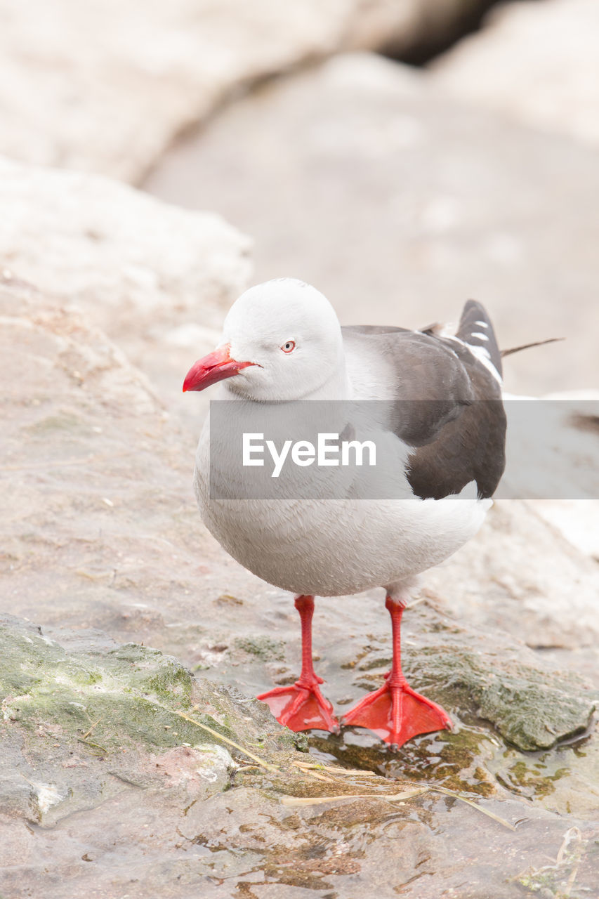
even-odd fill
[{"label": "large blurred greyish boulder directly behind the gull's head and tail", "polygon": [[250,231],[256,281],[308,280],[346,324],[422,327],[475,297],[504,348],[568,338],[508,357],[506,389],[596,387],[595,153],[412,69],[350,54],[263,85],[146,186]]}]

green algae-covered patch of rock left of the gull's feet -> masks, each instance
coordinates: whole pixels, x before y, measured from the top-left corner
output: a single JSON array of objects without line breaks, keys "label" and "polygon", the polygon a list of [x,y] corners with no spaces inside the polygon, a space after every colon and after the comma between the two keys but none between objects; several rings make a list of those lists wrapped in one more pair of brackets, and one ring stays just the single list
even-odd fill
[{"label": "green algae-covered patch of rock left of the gull's feet", "polygon": [[4,722],[34,729],[51,721],[67,740],[81,741],[96,722],[94,741],[106,752],[125,744],[165,749],[197,743],[199,736],[204,743],[217,739],[199,734],[197,725],[177,715],[181,711],[193,711],[229,740],[255,742],[256,733],[278,729],[288,742],[261,703],[244,698],[237,704],[226,688],[194,678],[159,650],[125,644],[102,653],[70,652],[10,615],[0,617],[0,696]]}]

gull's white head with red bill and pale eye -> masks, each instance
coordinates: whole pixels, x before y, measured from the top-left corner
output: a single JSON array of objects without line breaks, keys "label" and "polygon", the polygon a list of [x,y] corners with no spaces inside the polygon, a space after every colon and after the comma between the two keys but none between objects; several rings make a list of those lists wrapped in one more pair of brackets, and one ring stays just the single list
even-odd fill
[{"label": "gull's white head with red bill and pale eye", "polygon": [[187,373],[185,390],[227,378],[253,400],[298,400],[343,372],[343,338],[335,309],[316,288],[280,278],[246,290],[228,311],[222,341]]}]

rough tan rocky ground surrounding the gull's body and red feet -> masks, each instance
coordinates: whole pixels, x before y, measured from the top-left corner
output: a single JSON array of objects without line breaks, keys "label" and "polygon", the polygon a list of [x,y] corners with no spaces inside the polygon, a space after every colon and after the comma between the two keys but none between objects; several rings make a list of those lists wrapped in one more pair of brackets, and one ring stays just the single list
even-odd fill
[{"label": "rough tan rocky ground surrounding the gull's body and red feet", "polygon": [[[40,257],[41,279],[51,265]],[[160,282],[162,257],[153,264]],[[576,877],[588,895],[596,690],[574,672],[588,667],[577,654],[594,627],[595,564],[526,504],[498,503],[478,539],[426,575],[425,601],[406,615],[407,671],[454,731],[396,756],[347,728],[312,737],[311,756],[294,751],[247,699],[297,675],[290,598],[203,530],[194,440],[166,413],[170,394],[156,396],[92,324],[103,305],[94,261],[86,280],[80,311],[58,280],[49,294],[16,263],[0,283],[2,610],[36,623],[4,620],[0,647],[0,891],[36,895],[43,877],[50,899],[66,881],[106,899],[199,889],[475,899],[491,883],[518,899],[559,895]],[[565,593],[579,606],[556,667],[516,637],[547,645],[539,633],[557,632]],[[379,592],[317,602],[318,670],[340,714],[380,681],[389,648]],[[326,798],[346,794],[356,798]]]}]

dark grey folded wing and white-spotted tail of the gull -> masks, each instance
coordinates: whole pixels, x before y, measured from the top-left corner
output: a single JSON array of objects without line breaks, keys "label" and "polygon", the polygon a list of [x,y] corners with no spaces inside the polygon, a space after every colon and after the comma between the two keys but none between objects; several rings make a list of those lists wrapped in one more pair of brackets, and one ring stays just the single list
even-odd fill
[{"label": "dark grey folded wing and white-spotted tail of the gull", "polygon": [[486,350],[500,373],[484,307],[469,300],[458,340],[433,329],[353,328],[352,334],[350,340],[369,344],[363,346],[366,356],[382,355],[391,363],[398,399],[390,404],[389,428],[414,448],[407,473],[414,493],[442,499],[476,481],[478,495],[491,496],[505,467],[505,411],[498,379],[469,349],[470,343]]}]

